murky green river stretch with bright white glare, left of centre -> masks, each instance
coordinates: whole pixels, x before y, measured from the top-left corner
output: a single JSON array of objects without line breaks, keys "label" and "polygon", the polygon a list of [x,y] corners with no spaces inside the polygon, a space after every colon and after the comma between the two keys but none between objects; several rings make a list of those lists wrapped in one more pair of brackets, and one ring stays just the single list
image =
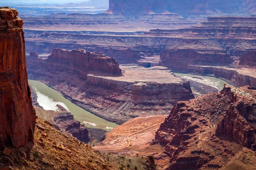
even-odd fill
[{"label": "murky green river stretch with bright white glare, left of centre", "polygon": [[78,119],[81,124],[84,124],[86,127],[111,130],[113,127],[118,126],[115,123],[109,122],[88,111],[85,111],[84,109],[70,102],[68,99],[65,99],[64,96],[62,96],[58,91],[44,85],[44,83],[29,80],[29,85],[35,90],[35,93],[38,96],[37,101],[39,105],[44,108],[44,110],[56,111],[55,105],[58,103],[72,113],[74,118]]}]

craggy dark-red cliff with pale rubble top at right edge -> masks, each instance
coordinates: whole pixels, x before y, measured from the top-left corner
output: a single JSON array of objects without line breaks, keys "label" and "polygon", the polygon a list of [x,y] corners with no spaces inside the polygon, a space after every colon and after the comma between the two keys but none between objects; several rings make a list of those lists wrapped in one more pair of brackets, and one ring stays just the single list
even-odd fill
[{"label": "craggy dark-red cliff with pale rubble top at right edge", "polygon": [[[226,86],[221,92],[224,96],[230,96],[231,104],[226,115],[218,124],[216,136],[229,136],[241,147],[256,150],[256,103],[254,100],[255,91],[242,91]],[[253,95],[250,94],[254,93]]]}]

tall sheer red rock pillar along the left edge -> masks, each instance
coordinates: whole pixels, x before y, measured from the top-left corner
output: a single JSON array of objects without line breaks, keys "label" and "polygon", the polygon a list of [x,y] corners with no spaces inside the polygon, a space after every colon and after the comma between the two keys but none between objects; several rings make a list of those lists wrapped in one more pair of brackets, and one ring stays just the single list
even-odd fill
[{"label": "tall sheer red rock pillar along the left edge", "polygon": [[35,111],[26,72],[23,21],[0,8],[0,143],[21,147],[34,139]]}]

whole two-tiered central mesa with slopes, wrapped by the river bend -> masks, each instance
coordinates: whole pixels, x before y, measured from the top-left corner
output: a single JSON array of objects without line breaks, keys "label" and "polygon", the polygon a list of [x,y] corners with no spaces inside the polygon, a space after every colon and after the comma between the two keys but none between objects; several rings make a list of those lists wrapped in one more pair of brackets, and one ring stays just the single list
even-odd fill
[{"label": "whole two-tiered central mesa with slopes, wrapped by the river bend", "polygon": [[104,54],[56,49],[47,59],[31,53],[27,64],[29,79],[43,82],[81,108],[118,124],[132,117],[166,114],[177,101],[194,98],[189,82],[167,68],[119,67]]}]

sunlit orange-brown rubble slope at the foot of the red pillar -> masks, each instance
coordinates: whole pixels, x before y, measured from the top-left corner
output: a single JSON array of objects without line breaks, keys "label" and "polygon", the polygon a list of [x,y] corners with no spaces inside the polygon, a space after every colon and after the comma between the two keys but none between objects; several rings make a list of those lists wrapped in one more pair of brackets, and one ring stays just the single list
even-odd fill
[{"label": "sunlit orange-brown rubble slope at the foot of the red pillar", "polygon": [[[137,167],[145,170],[154,159],[121,157],[100,153],[90,145],[67,136],[42,119],[36,119],[35,144],[30,153],[24,148],[7,148],[0,155],[0,169],[6,170],[119,170]],[[1,149],[2,150],[2,149]],[[128,169],[128,168],[127,168]],[[151,170],[151,169],[148,169]]]}]

